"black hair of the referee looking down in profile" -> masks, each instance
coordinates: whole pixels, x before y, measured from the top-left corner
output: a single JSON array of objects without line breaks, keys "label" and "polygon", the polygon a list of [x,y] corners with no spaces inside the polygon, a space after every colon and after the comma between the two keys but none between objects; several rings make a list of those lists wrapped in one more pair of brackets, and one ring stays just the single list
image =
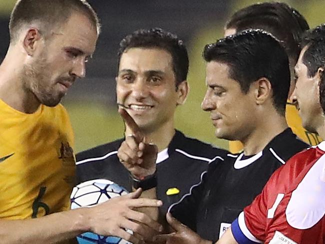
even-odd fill
[{"label": "black hair of the referee looking down in profile", "polygon": [[271,83],[273,104],[284,114],[289,91],[290,71],[283,46],[270,34],[250,29],[207,44],[205,61],[222,62],[229,67],[229,77],[246,93],[250,84],[261,77]]}]

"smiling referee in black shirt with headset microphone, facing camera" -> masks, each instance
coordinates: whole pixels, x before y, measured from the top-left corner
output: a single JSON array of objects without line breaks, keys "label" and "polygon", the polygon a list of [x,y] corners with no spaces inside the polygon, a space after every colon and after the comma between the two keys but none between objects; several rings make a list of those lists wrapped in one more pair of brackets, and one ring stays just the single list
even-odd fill
[{"label": "smiling referee in black shirt with headset microphone, facing camera", "polygon": [[[200,180],[208,162],[225,151],[174,128],[174,113],[188,93],[188,56],[176,35],[159,28],[137,30],[120,42],[116,96],[136,121],[145,139],[158,147],[157,197],[164,204],[178,201]],[[126,127],[126,137],[130,134]],[[105,178],[132,190],[130,175],[117,157],[124,138],[76,154],[78,183]],[[143,186],[142,186],[143,188]]]}]

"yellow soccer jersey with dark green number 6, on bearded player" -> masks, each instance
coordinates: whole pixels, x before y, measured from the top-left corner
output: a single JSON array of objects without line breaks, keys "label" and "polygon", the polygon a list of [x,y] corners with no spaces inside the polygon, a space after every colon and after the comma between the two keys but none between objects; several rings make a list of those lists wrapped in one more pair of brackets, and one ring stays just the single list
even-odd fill
[{"label": "yellow soccer jersey with dark green number 6, on bearded player", "polygon": [[69,209],[75,160],[64,107],[25,114],[0,100],[0,117],[0,219]]}]

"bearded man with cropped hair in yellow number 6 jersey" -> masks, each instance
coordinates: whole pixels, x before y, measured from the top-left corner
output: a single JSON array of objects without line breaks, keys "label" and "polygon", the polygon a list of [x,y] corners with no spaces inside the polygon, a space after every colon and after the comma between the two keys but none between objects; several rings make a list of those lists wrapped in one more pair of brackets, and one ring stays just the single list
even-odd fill
[{"label": "bearded man with cropped hair in yellow number 6 jersey", "polygon": [[161,205],[135,199],[140,190],[64,211],[75,163],[71,125],[59,102],[84,77],[99,29],[85,0],[18,0],[11,13],[0,65],[1,243],[67,242],[85,231],[138,243],[160,228],[133,210]]}]

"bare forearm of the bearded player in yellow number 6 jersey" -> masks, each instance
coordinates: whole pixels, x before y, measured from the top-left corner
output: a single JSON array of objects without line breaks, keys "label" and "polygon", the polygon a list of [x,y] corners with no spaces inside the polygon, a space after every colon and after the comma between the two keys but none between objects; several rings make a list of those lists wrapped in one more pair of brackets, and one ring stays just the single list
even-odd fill
[{"label": "bare forearm of the bearded player in yellow number 6 jersey", "polygon": [[0,242],[50,244],[74,238],[88,230],[84,224],[87,222],[84,210],[80,208],[24,220],[0,219]]}]

